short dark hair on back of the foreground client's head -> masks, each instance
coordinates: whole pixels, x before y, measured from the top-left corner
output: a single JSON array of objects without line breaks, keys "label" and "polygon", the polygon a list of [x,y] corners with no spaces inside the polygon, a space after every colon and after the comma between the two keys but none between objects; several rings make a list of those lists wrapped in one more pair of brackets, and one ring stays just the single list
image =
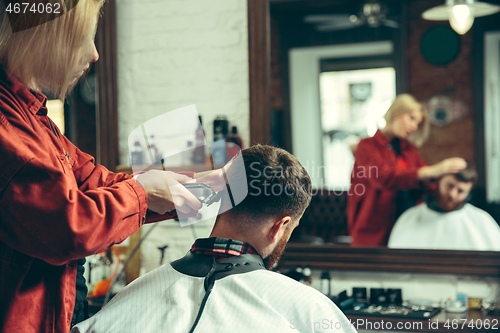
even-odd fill
[{"label": "short dark hair on back of the foreground client's head", "polygon": [[244,177],[248,194],[227,213],[234,218],[300,217],[311,202],[311,178],[299,161],[286,150],[255,145],[241,151],[227,170],[227,178]]}]

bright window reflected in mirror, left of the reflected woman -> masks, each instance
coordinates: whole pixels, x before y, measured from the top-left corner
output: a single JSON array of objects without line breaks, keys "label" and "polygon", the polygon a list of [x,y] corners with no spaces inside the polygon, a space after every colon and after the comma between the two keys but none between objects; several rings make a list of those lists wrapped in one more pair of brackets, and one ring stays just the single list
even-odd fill
[{"label": "bright window reflected in mirror, left of the reflected woman", "polygon": [[323,72],[319,81],[325,183],[347,191],[357,143],[385,126],[384,114],[396,96],[396,71]]}]

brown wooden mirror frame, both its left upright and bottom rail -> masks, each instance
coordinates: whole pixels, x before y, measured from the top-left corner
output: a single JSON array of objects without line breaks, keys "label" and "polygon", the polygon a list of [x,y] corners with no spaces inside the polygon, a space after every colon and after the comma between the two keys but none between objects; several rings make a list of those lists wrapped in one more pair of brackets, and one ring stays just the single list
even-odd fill
[{"label": "brown wooden mirror frame, both its left upright and bottom rail", "polygon": [[[271,142],[270,0],[247,0],[250,142]],[[476,128],[477,129],[477,128]],[[500,276],[500,252],[288,244],[280,267]]]}]

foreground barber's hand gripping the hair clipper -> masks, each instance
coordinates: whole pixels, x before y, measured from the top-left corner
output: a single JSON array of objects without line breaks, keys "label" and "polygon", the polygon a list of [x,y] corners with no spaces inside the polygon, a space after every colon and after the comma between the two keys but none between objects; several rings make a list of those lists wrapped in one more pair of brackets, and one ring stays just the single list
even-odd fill
[{"label": "foreground barber's hand gripping the hair clipper", "polygon": [[199,210],[201,202],[182,184],[195,183],[195,179],[170,171],[149,170],[134,177],[136,182],[146,190],[148,209],[165,214],[174,209],[189,213]]}]

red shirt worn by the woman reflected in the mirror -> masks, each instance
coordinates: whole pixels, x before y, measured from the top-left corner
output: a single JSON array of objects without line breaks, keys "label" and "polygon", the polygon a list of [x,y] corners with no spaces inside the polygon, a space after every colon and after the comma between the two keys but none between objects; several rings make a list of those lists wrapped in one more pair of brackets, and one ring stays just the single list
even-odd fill
[{"label": "red shirt worn by the woman reflected in the mirror", "polygon": [[381,131],[359,142],[347,198],[351,245],[387,245],[396,222],[398,192],[424,185],[417,170],[427,163],[410,142],[401,140],[400,148],[398,157]]}]

